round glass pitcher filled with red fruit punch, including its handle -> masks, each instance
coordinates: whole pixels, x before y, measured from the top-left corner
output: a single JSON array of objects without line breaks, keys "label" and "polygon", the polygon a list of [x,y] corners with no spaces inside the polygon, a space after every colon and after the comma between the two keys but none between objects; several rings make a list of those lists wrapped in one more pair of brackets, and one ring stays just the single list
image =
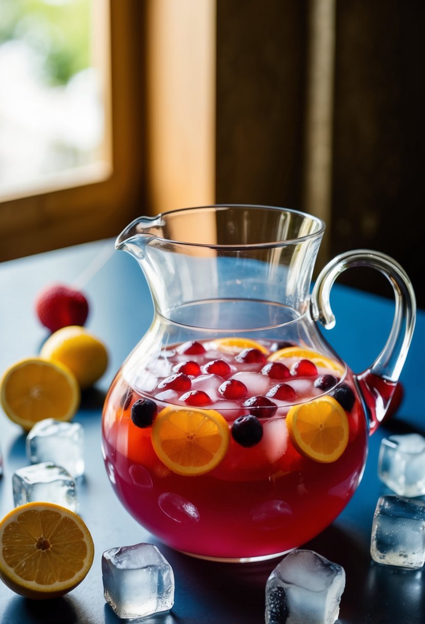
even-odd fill
[{"label": "round glass pitcher filled with red fruit punch, including its handle", "polygon": [[[216,205],[141,217],[116,248],[140,264],[155,314],[108,391],[102,450],[118,498],[166,545],[261,560],[329,525],[358,486],[411,341],[408,276],[382,253],[334,258],[310,294],[325,224],[282,208]],[[355,374],[318,322],[351,266],[393,285],[383,351]]]}]

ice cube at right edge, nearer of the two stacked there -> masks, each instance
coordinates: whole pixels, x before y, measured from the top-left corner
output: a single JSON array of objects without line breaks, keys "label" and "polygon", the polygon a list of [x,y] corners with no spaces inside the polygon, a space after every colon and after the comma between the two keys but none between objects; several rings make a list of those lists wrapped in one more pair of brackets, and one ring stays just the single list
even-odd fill
[{"label": "ice cube at right edge, nearer of the two stacked there", "polygon": [[373,516],[370,554],[374,561],[418,569],[425,563],[425,501],[381,496]]}]

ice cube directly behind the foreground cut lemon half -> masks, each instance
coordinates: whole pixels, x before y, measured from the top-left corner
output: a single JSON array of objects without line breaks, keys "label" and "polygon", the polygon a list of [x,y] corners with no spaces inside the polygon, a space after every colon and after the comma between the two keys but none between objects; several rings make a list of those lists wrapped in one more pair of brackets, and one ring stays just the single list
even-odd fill
[{"label": "ice cube directly behind the foreground cut lemon half", "polygon": [[15,507],[44,500],[77,511],[74,479],[67,470],[53,462],[19,468],[12,476],[12,487]]}]

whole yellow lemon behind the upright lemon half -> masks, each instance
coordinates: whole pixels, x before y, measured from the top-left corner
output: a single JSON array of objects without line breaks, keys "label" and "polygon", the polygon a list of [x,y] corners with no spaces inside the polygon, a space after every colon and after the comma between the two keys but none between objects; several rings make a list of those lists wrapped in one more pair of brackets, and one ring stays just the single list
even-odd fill
[{"label": "whole yellow lemon behind the upright lemon half", "polygon": [[65,364],[74,373],[82,390],[93,386],[108,366],[105,345],[79,325],[55,331],[43,344],[40,355]]}]

